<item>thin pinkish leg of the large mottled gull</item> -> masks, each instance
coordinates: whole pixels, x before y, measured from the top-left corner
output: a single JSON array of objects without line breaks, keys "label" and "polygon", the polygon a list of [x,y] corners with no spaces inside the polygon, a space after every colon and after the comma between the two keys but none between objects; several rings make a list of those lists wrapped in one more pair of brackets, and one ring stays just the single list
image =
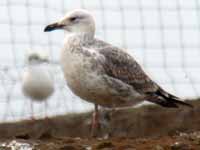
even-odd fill
[{"label": "thin pinkish leg of the large mottled gull", "polygon": [[91,136],[96,136],[97,130],[99,129],[99,111],[98,111],[98,105],[95,104],[95,110],[92,114],[92,132]]}]

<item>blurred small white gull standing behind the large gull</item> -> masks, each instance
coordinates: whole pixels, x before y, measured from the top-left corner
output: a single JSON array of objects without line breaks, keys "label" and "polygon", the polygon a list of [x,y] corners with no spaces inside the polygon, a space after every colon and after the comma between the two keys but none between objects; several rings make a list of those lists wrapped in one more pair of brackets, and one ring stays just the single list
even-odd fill
[{"label": "blurred small white gull standing behind the large gull", "polygon": [[[27,68],[22,75],[22,91],[32,101],[45,101],[46,115],[47,99],[54,92],[54,82],[48,67],[48,55],[44,52],[29,50],[26,62]],[[33,111],[33,103],[31,102],[32,115]]]}]

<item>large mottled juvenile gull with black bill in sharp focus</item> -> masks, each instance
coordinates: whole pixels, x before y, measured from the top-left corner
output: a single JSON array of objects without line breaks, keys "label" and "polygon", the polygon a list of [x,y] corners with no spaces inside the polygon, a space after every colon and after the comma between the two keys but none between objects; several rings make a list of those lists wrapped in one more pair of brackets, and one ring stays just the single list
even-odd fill
[{"label": "large mottled juvenile gull with black bill in sharp focus", "polygon": [[55,29],[66,31],[61,65],[68,86],[95,104],[93,128],[98,105],[127,107],[147,100],[164,107],[192,107],[152,81],[123,49],[95,38],[95,21],[88,11],[71,11],[44,31]]}]

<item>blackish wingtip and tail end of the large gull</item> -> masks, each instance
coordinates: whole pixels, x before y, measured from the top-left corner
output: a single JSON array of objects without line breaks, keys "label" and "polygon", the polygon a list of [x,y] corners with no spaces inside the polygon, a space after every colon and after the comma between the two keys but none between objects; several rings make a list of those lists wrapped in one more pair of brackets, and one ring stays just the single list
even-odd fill
[{"label": "blackish wingtip and tail end of the large gull", "polygon": [[193,108],[191,104],[181,101],[180,98],[165,92],[163,89],[159,88],[150,99],[150,102],[159,104],[163,107],[178,108],[179,105],[184,105]]}]

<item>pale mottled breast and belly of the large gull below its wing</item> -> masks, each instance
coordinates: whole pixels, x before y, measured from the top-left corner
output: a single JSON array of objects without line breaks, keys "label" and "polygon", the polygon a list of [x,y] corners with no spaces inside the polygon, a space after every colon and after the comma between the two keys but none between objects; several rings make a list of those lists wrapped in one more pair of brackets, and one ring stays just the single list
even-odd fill
[{"label": "pale mottled breast and belly of the large gull below its wing", "polygon": [[95,59],[65,52],[61,55],[61,64],[69,88],[80,98],[105,107],[126,107],[137,103],[133,100],[134,90],[101,73],[102,66]]}]

